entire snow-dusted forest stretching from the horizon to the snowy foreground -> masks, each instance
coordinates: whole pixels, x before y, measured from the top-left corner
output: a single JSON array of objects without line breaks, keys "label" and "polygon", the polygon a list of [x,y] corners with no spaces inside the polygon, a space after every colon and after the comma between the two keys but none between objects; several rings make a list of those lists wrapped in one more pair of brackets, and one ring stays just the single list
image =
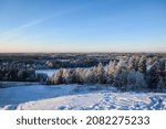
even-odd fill
[{"label": "entire snow-dusted forest stretching from the horizon to the snowy foreground", "polygon": [[[37,69],[58,69],[52,77]],[[1,82],[105,84],[121,90],[164,92],[166,54],[162,53],[62,53],[0,54]]]}]

